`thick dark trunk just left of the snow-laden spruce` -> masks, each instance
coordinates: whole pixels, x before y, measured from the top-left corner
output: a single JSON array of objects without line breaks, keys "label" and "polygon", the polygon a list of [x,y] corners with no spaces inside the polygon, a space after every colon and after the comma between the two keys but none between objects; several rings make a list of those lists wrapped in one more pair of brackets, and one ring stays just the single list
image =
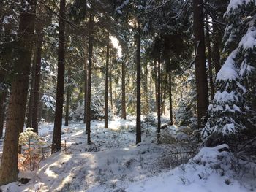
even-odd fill
[{"label": "thick dark trunk just left of the snow-laden spruce", "polygon": [[193,0],[195,36],[195,79],[197,85],[197,125],[202,128],[201,118],[208,108],[206,53],[203,28],[203,0]]}]

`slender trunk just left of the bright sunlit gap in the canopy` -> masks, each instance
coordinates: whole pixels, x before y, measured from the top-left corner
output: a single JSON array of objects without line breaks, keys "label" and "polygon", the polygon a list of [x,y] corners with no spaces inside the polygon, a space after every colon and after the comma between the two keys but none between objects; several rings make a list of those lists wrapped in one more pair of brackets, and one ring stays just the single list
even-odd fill
[{"label": "slender trunk just left of the bright sunlit gap in the canopy", "polygon": [[105,128],[108,128],[108,65],[109,65],[109,33],[107,35],[107,55],[106,55],[106,72],[105,72]]}]

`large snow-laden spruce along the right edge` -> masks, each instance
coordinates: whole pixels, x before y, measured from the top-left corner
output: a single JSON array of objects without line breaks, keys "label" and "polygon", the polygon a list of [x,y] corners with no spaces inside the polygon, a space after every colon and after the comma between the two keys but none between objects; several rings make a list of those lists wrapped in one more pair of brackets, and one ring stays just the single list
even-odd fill
[{"label": "large snow-laden spruce along the right edge", "polygon": [[230,142],[233,136],[250,127],[244,85],[246,77],[252,77],[255,70],[255,4],[256,1],[230,1],[227,7],[224,39],[229,56],[217,74],[217,93],[208,107],[209,118],[202,131],[207,145]]}]

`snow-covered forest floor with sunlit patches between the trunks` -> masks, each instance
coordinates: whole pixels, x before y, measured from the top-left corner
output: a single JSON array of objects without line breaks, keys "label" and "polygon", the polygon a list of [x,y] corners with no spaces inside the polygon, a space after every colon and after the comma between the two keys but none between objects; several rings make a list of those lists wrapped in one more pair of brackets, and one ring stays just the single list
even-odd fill
[{"label": "snow-covered forest floor with sunlit patches between the trunks", "polygon": [[[177,139],[174,126],[162,132],[164,138],[172,135]],[[39,136],[48,145],[52,134],[53,123],[42,123]],[[191,158],[193,154],[184,153],[190,150],[189,143],[158,145],[156,127],[147,123],[143,124],[143,142],[135,145],[135,118],[111,120],[108,129],[104,121],[93,120],[92,145],[86,144],[86,137],[85,124],[71,122],[62,129],[61,142],[66,143],[66,150],[63,147],[60,153],[49,155],[50,147],[45,147],[45,159],[39,168],[19,174],[30,178],[29,183],[10,183],[1,190],[35,191],[38,183],[40,192],[256,191],[256,166],[242,164],[243,169],[238,167],[236,172],[226,145],[204,147]]]}]

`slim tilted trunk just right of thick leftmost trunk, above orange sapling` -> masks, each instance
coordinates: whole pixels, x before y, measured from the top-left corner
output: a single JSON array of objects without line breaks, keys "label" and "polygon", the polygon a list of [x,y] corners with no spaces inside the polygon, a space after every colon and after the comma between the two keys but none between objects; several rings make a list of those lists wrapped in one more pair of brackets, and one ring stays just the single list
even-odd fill
[{"label": "slim tilted trunk just right of thick leftmost trunk, above orange sapling", "polygon": [[32,64],[32,73],[31,73],[31,83],[30,83],[30,91],[29,91],[29,111],[27,114],[26,120],[26,127],[31,127],[32,125],[32,114],[33,114],[33,104],[34,104],[34,76],[36,71],[36,57],[37,57],[37,50],[36,44],[34,46],[33,51],[33,64]]}]

